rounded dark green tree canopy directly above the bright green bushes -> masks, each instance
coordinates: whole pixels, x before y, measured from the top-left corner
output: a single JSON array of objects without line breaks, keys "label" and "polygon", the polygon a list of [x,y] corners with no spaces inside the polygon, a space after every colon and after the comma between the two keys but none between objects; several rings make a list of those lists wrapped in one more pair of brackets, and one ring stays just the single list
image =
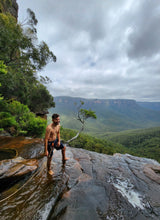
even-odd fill
[{"label": "rounded dark green tree canopy directly above the bright green bushes", "polygon": [[29,72],[15,72],[13,74],[9,70],[6,75],[0,77],[0,80],[2,82],[0,91],[6,99],[17,99],[28,105],[33,112],[40,112],[54,106],[53,97],[46,87],[33,78]]}]

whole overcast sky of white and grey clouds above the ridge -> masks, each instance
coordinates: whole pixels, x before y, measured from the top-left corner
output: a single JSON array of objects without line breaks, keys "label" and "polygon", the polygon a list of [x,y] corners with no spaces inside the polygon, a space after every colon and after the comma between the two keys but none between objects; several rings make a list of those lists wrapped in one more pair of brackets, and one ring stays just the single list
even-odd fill
[{"label": "whole overcast sky of white and grey clouds above the ridge", "polygon": [[57,57],[53,96],[160,101],[159,0],[18,0]]}]

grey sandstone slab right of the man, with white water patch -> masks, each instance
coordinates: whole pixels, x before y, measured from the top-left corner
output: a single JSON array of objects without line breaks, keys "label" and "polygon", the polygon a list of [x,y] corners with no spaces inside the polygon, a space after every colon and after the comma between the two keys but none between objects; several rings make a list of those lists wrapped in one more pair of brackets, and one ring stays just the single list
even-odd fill
[{"label": "grey sandstone slab right of the man, with white water patch", "polygon": [[158,162],[69,150],[73,154],[66,167],[69,190],[48,219],[160,219],[159,174],[154,172],[160,170]]}]

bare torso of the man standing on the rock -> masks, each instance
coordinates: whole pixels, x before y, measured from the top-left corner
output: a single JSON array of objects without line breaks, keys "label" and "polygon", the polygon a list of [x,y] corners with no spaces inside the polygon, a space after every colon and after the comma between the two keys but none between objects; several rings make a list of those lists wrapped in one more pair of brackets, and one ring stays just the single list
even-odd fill
[{"label": "bare torso of the man standing on the rock", "polygon": [[48,125],[46,130],[48,141],[54,141],[57,138],[57,134],[59,133],[59,130],[60,130],[60,125],[55,126],[53,125],[53,123]]}]

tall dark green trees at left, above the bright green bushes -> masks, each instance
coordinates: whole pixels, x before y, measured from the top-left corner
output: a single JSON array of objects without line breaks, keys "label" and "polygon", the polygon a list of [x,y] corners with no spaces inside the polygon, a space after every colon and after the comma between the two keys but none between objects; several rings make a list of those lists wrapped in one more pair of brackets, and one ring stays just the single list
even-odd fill
[{"label": "tall dark green trees at left, above the bright green bushes", "polygon": [[11,14],[0,13],[0,59],[8,71],[8,74],[0,75],[0,93],[5,99],[14,98],[28,105],[33,112],[54,106],[53,97],[38,81],[36,72],[48,62],[55,62],[56,57],[45,42],[38,44],[37,22],[30,9],[28,20],[23,25],[18,24]]}]

